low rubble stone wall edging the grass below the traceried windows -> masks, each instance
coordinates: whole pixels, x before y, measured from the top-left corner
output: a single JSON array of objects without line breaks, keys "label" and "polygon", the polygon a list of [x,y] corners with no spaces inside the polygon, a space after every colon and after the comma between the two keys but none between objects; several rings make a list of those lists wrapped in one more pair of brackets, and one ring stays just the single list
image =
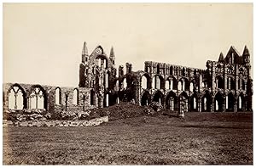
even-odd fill
[{"label": "low rubble stone wall edging the grass below the traceried windows", "polygon": [[3,126],[54,126],[54,127],[73,127],[73,126],[98,126],[103,122],[108,122],[108,116],[92,120],[3,120]]}]

